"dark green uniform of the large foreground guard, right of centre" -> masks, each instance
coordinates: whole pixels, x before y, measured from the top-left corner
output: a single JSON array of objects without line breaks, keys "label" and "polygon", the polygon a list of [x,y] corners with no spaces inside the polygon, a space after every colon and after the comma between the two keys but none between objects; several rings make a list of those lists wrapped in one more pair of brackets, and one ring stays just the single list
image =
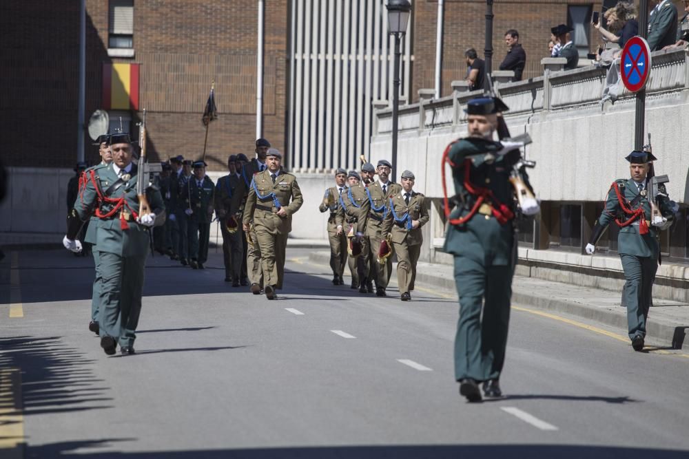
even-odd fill
[{"label": "dark green uniform of the large foreground guard, right of centre", "polygon": [[[469,217],[477,199],[464,183],[492,191],[490,204],[480,206],[464,224],[450,224],[444,250],[455,256],[455,283],[460,297],[460,319],[455,337],[455,378],[477,382],[497,379],[502,371],[512,296],[512,277],[517,249],[513,218],[499,222],[493,208],[513,208],[509,182],[511,153],[495,156],[500,142],[465,138],[449,152],[457,206],[450,218]],[[483,309],[483,314],[482,314]]]}]

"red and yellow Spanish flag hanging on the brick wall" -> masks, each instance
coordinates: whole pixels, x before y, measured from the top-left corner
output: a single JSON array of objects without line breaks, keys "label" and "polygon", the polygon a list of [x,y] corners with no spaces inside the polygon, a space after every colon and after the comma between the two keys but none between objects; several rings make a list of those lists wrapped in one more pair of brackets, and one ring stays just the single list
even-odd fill
[{"label": "red and yellow Spanish flag hanging on the brick wall", "polygon": [[103,108],[138,110],[138,72],[141,64],[103,63]]}]

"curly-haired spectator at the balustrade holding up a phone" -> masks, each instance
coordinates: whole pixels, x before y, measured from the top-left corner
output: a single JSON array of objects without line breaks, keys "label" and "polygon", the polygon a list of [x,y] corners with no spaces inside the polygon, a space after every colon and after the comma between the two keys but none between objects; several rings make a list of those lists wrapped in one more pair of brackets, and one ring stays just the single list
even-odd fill
[{"label": "curly-haired spectator at the balustrade holding up a phone", "polygon": [[[618,43],[620,47],[624,47],[630,38],[639,33],[639,23],[636,20],[637,10],[632,3],[619,1],[617,5],[606,11],[605,17],[608,20],[610,30],[605,30],[600,22],[593,24],[593,27],[607,41]],[[609,66],[601,103],[606,100],[614,103],[617,100],[621,78],[617,57],[620,53],[621,50],[605,50],[600,56],[600,64]]]}]

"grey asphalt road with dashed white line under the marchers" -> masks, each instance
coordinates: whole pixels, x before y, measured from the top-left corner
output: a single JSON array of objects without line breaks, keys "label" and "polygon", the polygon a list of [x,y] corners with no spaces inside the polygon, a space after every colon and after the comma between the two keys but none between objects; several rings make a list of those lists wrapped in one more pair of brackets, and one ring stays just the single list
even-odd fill
[{"label": "grey asphalt road with dashed white line under the marchers", "polygon": [[223,282],[214,250],[206,270],[155,257],[137,354],[107,357],[92,261],[8,255],[0,372],[21,394],[0,384],[0,457],[18,435],[26,458],[689,457],[689,354],[633,352],[622,330],[515,305],[506,396],[467,404],[453,292],[360,295],[295,249],[268,301]]}]

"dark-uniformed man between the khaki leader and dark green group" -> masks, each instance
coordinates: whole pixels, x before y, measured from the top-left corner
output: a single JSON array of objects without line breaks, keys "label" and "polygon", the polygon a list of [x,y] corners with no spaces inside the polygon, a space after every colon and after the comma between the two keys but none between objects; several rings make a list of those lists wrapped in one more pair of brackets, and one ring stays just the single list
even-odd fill
[{"label": "dark-uniformed man between the khaki leader and dark green group", "polygon": [[215,191],[216,216],[220,224],[220,232],[223,234],[225,282],[232,282],[233,287],[240,286],[244,250],[240,224],[232,213],[232,196],[236,193],[241,180],[236,173],[236,161],[236,155],[230,155],[227,158],[227,171],[229,173],[218,178]]}]

